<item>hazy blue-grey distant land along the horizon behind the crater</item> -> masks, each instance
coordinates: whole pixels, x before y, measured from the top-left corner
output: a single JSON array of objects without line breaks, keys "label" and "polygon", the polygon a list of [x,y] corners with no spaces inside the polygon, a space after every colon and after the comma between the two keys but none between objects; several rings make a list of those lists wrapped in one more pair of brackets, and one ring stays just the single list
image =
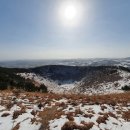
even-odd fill
[{"label": "hazy blue-grey distant land along the horizon behind the crater", "polygon": [[0,62],[1,67],[33,68],[43,65],[68,65],[68,66],[124,66],[130,68],[130,57],[108,59],[70,59],[70,60],[17,60]]}]

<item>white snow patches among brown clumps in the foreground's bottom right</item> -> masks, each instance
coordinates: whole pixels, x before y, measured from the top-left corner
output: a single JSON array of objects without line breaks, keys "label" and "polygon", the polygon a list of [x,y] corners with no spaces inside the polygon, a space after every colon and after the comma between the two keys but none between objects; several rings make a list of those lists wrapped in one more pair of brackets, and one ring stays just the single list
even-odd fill
[{"label": "white snow patches among brown clumps in the foreground's bottom right", "polygon": [[[83,114],[77,114],[74,117],[74,122],[77,125],[81,125],[82,126],[82,121],[84,122],[93,122],[94,125],[90,130],[130,130],[130,122],[126,122],[124,119],[122,119],[122,117],[120,115],[117,114],[116,111],[118,111],[117,109],[113,109],[112,106],[106,105],[106,109],[104,111],[101,110],[100,105],[85,105],[82,107],[82,104],[77,106],[77,108],[79,107],[80,110],[83,112]],[[68,106],[70,107],[70,106]],[[72,106],[71,106],[72,107]],[[75,111],[76,109],[73,107],[73,110]],[[85,117],[85,114],[90,114],[88,111],[92,111],[92,117]],[[126,108],[126,110],[128,110]],[[66,113],[68,112],[72,112],[72,110],[66,109],[65,110]],[[73,111],[73,112],[74,112]],[[114,118],[111,117],[110,115],[108,116],[106,123],[97,123],[97,119],[100,115],[100,113],[107,113],[107,112],[112,112],[114,113],[116,116],[118,115],[118,118]],[[66,116],[61,116],[61,118],[59,119],[54,119],[50,121],[50,130],[61,130],[61,127],[63,126],[63,124],[65,122],[68,122],[69,120],[67,119]]]}]

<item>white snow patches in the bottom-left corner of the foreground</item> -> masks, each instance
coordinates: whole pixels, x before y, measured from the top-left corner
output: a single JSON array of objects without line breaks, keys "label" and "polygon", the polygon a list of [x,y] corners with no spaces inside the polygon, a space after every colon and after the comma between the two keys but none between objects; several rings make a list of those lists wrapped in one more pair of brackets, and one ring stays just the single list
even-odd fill
[{"label": "white snow patches in the bottom-left corner of the foreground", "polygon": [[[26,106],[27,104],[29,104],[31,107],[31,104],[29,102],[27,102],[26,104],[24,103],[24,100],[22,99],[19,100],[23,102],[22,105]],[[18,100],[16,100],[16,102],[17,101]],[[12,128],[14,128],[17,124],[19,124],[18,130],[38,130],[40,128],[40,123],[36,122],[34,122],[33,124],[31,123],[31,119],[34,118],[34,116],[30,113],[33,110],[33,107],[29,109],[26,108],[25,113],[22,113],[21,115],[18,116],[18,118],[13,119],[13,113],[18,110],[21,110],[21,108],[16,104],[14,104],[10,108],[10,110],[7,110],[7,108],[4,106],[0,106],[0,130],[12,130]],[[2,115],[5,113],[9,113],[9,115],[2,117]]]}]

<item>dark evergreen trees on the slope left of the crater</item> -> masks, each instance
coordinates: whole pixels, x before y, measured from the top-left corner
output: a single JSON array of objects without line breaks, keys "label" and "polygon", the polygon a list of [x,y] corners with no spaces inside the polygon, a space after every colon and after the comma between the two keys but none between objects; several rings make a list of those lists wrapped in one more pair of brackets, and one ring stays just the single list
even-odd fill
[{"label": "dark evergreen trees on the slope left of the crater", "polygon": [[0,68],[0,90],[21,89],[29,92],[47,92],[47,88],[44,84],[37,87],[31,80],[22,78],[17,75],[17,73],[22,72],[29,72],[29,70],[16,68]]}]

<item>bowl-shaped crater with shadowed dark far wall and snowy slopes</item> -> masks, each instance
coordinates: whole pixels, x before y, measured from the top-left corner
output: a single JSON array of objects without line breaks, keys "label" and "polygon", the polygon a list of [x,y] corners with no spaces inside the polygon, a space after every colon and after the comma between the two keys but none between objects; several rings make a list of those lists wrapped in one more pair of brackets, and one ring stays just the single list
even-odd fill
[{"label": "bowl-shaped crater with shadowed dark far wall and snowy slopes", "polygon": [[45,66],[36,68],[35,73],[18,73],[18,75],[44,84],[54,93],[114,93],[123,92],[122,87],[125,85],[130,86],[130,72],[125,68],[60,67]]}]

